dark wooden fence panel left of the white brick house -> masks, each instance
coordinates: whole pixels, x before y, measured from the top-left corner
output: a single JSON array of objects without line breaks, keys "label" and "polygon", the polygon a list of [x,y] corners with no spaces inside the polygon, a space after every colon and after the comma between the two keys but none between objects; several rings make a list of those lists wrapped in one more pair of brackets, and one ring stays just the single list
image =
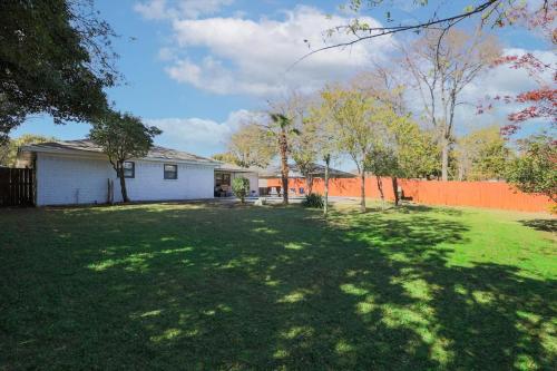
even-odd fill
[{"label": "dark wooden fence panel left of the white brick house", "polygon": [[35,175],[31,168],[0,167],[0,207],[32,206]]}]

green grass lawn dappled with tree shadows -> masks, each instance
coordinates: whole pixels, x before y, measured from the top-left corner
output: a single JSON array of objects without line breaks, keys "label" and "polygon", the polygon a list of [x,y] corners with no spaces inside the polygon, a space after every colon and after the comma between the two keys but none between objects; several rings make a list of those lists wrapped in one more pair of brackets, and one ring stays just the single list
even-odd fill
[{"label": "green grass lawn dappled with tree shadows", "polygon": [[555,370],[554,221],[0,211],[0,369]]}]

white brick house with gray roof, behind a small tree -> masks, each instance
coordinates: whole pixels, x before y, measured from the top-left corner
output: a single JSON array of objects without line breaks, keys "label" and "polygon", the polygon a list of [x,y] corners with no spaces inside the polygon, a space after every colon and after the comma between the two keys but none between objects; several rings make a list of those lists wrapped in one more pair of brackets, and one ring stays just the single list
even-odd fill
[{"label": "white brick house with gray roof, behind a small tree", "polygon": [[[18,165],[35,168],[37,206],[104,204],[108,199],[108,179],[114,180],[114,199],[121,201],[116,172],[89,140],[23,146]],[[134,202],[213,198],[215,168],[221,163],[154,147],[144,158],[125,165],[128,196]]]}]

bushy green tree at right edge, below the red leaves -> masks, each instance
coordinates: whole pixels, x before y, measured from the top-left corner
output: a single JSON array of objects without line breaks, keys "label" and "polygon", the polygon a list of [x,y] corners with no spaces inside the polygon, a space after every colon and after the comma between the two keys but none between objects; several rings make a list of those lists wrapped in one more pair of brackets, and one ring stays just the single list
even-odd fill
[{"label": "bushy green tree at right edge, below the red leaves", "polygon": [[557,141],[547,135],[521,140],[519,156],[508,167],[507,182],[557,203]]}]

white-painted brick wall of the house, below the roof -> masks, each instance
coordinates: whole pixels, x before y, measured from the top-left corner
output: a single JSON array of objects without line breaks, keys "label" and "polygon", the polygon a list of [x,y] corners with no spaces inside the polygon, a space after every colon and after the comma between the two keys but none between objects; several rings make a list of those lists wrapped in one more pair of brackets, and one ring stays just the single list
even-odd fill
[{"label": "white-painted brick wall of the house, below the roof", "polygon": [[[178,179],[164,179],[165,163],[135,160],[135,178],[126,178],[131,201],[212,198],[214,169],[206,165],[178,165]],[[37,205],[106,203],[107,179],[121,201],[120,184],[106,159],[37,154]]]}]

